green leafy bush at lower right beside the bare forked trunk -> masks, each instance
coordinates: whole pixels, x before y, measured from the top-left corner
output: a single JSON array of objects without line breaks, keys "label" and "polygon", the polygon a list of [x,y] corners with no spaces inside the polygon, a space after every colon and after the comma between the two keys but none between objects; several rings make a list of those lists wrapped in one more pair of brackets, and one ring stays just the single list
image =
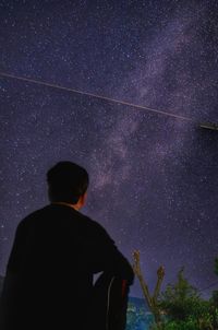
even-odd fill
[{"label": "green leafy bush at lower right beside the bare forked trunk", "polygon": [[157,330],[209,330],[213,328],[210,302],[203,300],[195,287],[178,273],[175,284],[169,284],[159,297],[159,307],[166,321],[153,327]]}]

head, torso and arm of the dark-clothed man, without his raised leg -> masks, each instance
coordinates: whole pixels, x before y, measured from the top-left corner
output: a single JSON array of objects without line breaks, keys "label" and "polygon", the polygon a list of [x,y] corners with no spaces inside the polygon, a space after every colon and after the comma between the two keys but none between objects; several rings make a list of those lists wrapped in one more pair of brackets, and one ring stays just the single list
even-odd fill
[{"label": "head, torso and arm of the dark-clothed man, without his raised leg", "polygon": [[2,330],[94,329],[93,275],[104,271],[133,283],[130,263],[105,228],[78,212],[86,201],[87,172],[60,162],[48,170],[47,181],[51,203],[16,228]]}]

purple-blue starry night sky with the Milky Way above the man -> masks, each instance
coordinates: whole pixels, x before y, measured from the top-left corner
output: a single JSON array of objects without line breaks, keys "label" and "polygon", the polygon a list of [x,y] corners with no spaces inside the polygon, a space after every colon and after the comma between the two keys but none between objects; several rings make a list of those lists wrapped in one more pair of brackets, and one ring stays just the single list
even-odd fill
[{"label": "purple-blue starry night sky with the Milky Way above the man", "polygon": [[1,72],[192,119],[0,76],[0,273],[17,223],[48,203],[46,172],[72,161],[90,175],[83,213],[131,262],[141,250],[150,288],[160,264],[164,287],[183,266],[198,288],[218,282],[218,131],[199,128],[218,122],[217,11],[216,0],[0,1]]}]

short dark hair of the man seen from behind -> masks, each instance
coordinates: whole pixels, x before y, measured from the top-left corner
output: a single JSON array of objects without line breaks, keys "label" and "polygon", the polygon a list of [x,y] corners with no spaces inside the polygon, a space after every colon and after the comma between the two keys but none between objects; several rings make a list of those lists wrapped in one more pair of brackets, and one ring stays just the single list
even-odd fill
[{"label": "short dark hair of the man seen from behind", "polygon": [[49,198],[52,202],[76,204],[88,188],[88,173],[72,162],[59,162],[47,173]]}]

